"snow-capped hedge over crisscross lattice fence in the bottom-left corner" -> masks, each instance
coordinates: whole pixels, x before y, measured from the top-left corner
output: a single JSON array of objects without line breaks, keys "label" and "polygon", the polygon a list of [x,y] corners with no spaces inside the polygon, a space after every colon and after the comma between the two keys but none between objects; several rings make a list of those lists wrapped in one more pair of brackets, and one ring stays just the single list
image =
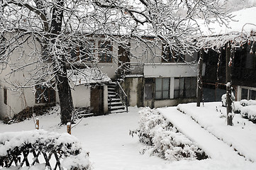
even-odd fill
[{"label": "snow-capped hedge over crisscross lattice fence in the bottom-left corner", "polygon": [[[45,130],[31,130],[0,134],[0,167],[9,164],[7,168],[16,166],[19,169],[24,153],[34,154],[39,152],[44,157],[50,154],[52,154],[52,157],[59,157],[61,168],[91,169],[88,152],[82,149],[76,137],[68,133],[59,134]],[[38,157],[37,162],[39,164],[33,165],[34,160],[35,158],[28,160],[29,166],[45,164],[43,157]],[[11,162],[13,163],[11,164]]]}]

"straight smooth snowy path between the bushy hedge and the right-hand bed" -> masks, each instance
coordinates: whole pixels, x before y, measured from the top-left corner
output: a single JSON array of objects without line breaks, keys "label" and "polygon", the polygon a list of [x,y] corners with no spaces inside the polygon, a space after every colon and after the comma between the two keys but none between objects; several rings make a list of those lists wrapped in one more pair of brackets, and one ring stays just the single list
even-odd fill
[{"label": "straight smooth snowy path between the bushy hedge and the right-hand bed", "polygon": [[177,107],[157,109],[169,120],[180,132],[196,142],[212,159],[233,159],[233,161],[243,160],[232,147],[218,140],[207,130],[192,120],[189,115],[177,110]]}]

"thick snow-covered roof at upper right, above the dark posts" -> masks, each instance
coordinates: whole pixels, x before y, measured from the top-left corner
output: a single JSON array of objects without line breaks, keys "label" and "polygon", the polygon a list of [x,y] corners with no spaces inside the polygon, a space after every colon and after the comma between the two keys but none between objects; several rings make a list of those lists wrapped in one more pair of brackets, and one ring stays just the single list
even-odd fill
[{"label": "thick snow-covered roof at upper right, above the dark posts", "polygon": [[197,21],[203,38],[199,38],[200,47],[221,47],[229,40],[237,44],[243,44],[248,39],[255,37],[256,31],[256,7],[244,8],[230,13],[233,18],[228,26],[217,22],[209,23]]}]

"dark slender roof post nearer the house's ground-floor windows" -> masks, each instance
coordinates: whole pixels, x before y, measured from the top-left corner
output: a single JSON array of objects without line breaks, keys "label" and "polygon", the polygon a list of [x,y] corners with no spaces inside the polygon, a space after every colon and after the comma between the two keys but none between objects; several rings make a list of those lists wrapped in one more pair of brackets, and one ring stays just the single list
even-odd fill
[{"label": "dark slender roof post nearer the house's ground-floor windows", "polygon": [[202,71],[203,71],[203,57],[204,53],[203,50],[200,50],[200,57],[199,57],[199,75],[197,79],[197,103],[196,106],[200,107],[200,102],[202,99],[202,92],[203,92],[203,84],[202,84]]}]

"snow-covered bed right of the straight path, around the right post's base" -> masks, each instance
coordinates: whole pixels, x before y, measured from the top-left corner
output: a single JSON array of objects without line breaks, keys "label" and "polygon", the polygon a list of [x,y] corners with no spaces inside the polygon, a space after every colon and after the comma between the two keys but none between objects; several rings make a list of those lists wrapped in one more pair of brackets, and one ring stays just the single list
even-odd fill
[{"label": "snow-covered bed right of the straight path, around the right post's base", "polygon": [[179,109],[197,120],[208,132],[232,145],[246,159],[256,162],[255,124],[242,118],[240,114],[235,114],[234,125],[227,126],[226,118],[220,118],[221,115],[226,115],[226,108],[223,108],[220,102],[205,103],[204,107],[200,108],[197,108],[195,103],[181,104]]}]

